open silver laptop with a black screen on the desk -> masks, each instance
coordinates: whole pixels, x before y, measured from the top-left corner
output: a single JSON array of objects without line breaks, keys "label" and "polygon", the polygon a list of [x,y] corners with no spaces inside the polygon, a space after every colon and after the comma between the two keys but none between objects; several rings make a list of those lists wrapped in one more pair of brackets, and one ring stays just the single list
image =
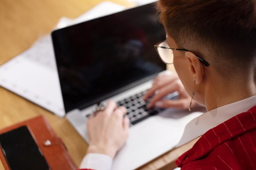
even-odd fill
[{"label": "open silver laptop with a black screen on the desk", "polygon": [[[166,38],[155,4],[146,4],[52,32],[65,113],[89,143],[86,121],[109,99],[127,108],[130,135],[113,170],[133,170],[171,150],[188,121],[200,115],[175,109],[148,109],[142,99],[166,65],[154,44]],[[171,93],[166,99],[175,99]]]}]

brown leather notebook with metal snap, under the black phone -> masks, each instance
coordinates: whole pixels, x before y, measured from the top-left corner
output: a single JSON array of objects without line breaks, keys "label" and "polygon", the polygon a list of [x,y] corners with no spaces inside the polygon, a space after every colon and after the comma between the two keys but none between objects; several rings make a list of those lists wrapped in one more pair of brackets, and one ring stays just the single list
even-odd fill
[{"label": "brown leather notebook with metal snap, under the black phone", "polygon": [[[51,170],[77,169],[74,161],[68,155],[63,142],[57,137],[52,127],[43,116],[38,116],[4,128],[0,130],[0,134],[21,126],[27,126],[29,128],[31,135],[34,136],[36,144],[43,152],[43,155]],[[0,159],[3,163],[4,169],[10,170],[2,150],[0,151]]]}]

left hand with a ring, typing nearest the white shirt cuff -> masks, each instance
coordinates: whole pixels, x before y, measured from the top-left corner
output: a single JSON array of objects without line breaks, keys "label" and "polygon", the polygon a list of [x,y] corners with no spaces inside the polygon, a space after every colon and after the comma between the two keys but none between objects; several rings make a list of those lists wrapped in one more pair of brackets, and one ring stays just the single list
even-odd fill
[{"label": "left hand with a ring, typing nearest the white shirt cuff", "polygon": [[109,101],[104,111],[88,119],[90,145],[87,153],[101,153],[112,159],[115,157],[128,138],[129,120],[124,117],[125,114],[126,108],[117,107],[114,101]]}]

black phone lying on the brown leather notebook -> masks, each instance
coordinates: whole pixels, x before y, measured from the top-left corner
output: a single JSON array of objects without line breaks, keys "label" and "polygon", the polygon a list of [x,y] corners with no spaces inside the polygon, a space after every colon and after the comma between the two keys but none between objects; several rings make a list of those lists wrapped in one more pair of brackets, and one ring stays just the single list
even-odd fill
[{"label": "black phone lying on the brown leather notebook", "polygon": [[0,147],[11,170],[49,170],[27,126],[0,135]]}]

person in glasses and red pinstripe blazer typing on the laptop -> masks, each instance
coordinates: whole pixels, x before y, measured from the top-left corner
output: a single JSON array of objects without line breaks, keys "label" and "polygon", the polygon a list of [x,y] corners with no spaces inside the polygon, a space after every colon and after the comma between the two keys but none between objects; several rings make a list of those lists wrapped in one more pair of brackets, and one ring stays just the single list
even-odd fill
[{"label": "person in glasses and red pinstripe blazer typing on the laptop", "polygon": [[[200,139],[177,166],[256,169],[255,0],[159,0],[157,8],[168,37],[155,48],[163,62],[174,64],[178,77],[157,77],[145,99],[159,93],[148,107],[193,109],[194,99],[208,110],[186,126],[182,144]],[[173,91],[179,99],[162,100]],[[90,118],[90,146],[81,168],[111,169],[128,137],[125,114],[110,101]]]}]

